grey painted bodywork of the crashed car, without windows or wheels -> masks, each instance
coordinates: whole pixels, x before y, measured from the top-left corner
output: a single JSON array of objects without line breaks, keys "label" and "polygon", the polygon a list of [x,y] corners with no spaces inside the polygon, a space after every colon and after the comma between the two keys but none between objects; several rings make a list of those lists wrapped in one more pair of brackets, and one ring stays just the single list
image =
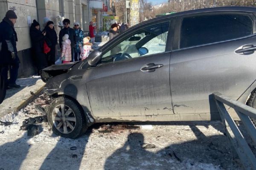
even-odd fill
[{"label": "grey painted bodywork of the crashed car, without windows or wheels", "polygon": [[[102,46],[102,48],[99,48],[99,50],[104,54],[105,51],[108,51],[111,47],[120,42],[119,40],[121,40],[122,37],[136,31],[136,29],[141,26],[156,23],[160,20],[170,20],[170,18],[180,15],[204,13],[208,11],[256,12],[256,8],[209,8],[158,17],[128,29],[124,34],[115,37]],[[176,39],[174,38],[174,41],[175,40],[177,40],[177,37]],[[236,48],[244,44],[255,45],[255,37],[251,36],[230,42],[203,45],[184,50],[177,49],[174,50],[172,54],[171,52],[163,53],[162,55],[165,55],[163,60],[157,60],[160,57],[157,57],[159,54],[156,54],[155,57],[153,55],[145,58],[131,59],[125,62],[109,63],[94,68],[89,66],[89,69],[86,69],[87,67],[79,69],[79,66],[75,65],[67,73],[49,79],[47,89],[50,94],[64,94],[75,99],[83,107],[84,112],[91,112],[93,114],[93,117],[96,118],[96,122],[212,119],[213,117],[210,111],[216,113],[216,110],[210,107],[212,105],[209,103],[209,94],[219,91],[233,99],[240,99],[241,102],[245,102],[244,99],[246,99],[247,96],[239,97],[247,88],[250,91],[256,88],[256,83],[253,83],[256,79],[253,74],[255,73],[255,54],[244,56],[234,53]],[[167,45],[171,46],[171,44]],[[166,65],[169,57],[171,57],[170,67],[167,66],[168,64]],[[220,61],[220,59],[224,60]],[[82,65],[86,62],[85,60]],[[164,64],[164,67],[157,69],[153,74],[140,72],[140,67],[149,62]],[[166,71],[167,68],[170,68],[170,72],[162,73],[161,69]],[[167,90],[168,87],[166,85],[163,86],[163,83],[167,80],[169,81],[169,78],[161,79],[161,76],[165,78],[166,74],[170,74],[171,92]],[[72,79],[72,77],[81,76],[81,79]],[[142,77],[142,80],[138,80],[138,77]],[[148,79],[145,80],[145,78]],[[155,79],[159,82],[154,82]],[[143,82],[143,80],[145,82]],[[160,86],[157,87],[156,85]],[[149,91],[145,91],[146,88],[143,88],[147,86],[149,87]],[[141,91],[137,92],[136,87]],[[153,93],[150,94],[152,90]],[[244,95],[250,93],[248,90]],[[136,94],[138,95],[136,96]],[[163,98],[160,98],[158,101],[157,97],[162,95]],[[127,97],[131,98],[128,99]],[[111,100],[113,102],[111,102]],[[172,104],[170,104],[169,101],[172,101]],[[123,104],[122,102],[126,103]],[[169,106],[171,106],[171,108],[169,108]],[[174,111],[171,111],[172,109],[174,109]],[[138,116],[134,118],[136,113]],[[110,115],[109,117],[115,116],[115,118],[101,120],[100,117],[108,117],[108,115]],[[144,118],[148,115],[153,116],[152,119],[148,117]],[[123,119],[123,116],[127,117]],[[218,113],[215,114],[214,117],[217,116]]]}]

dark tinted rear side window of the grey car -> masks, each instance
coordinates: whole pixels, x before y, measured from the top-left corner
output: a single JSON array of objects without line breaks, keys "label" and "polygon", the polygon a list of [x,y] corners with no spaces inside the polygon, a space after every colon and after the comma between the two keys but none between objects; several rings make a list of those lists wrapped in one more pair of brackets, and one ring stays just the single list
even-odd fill
[{"label": "dark tinted rear side window of the grey car", "polygon": [[232,40],[253,34],[253,20],[245,14],[215,14],[183,18],[180,48]]}]

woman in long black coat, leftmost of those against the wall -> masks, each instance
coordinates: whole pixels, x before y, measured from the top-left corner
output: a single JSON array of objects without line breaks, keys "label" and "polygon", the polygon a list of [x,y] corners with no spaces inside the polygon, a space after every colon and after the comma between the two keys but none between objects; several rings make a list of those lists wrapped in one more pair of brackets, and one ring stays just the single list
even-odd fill
[{"label": "woman in long black coat, leftmost of those against the wall", "polygon": [[32,42],[32,49],[35,55],[35,62],[38,69],[38,75],[40,70],[47,67],[47,59],[44,54],[44,39],[45,32],[40,31],[40,25],[36,20],[33,20],[33,23],[30,27],[30,38]]}]

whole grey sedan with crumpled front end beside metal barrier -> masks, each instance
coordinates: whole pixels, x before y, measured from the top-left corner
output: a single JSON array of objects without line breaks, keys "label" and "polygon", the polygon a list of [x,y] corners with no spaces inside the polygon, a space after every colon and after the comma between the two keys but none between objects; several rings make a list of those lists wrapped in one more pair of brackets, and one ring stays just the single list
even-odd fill
[{"label": "whole grey sedan with crumpled front end beside metal barrier", "polygon": [[45,68],[53,132],[76,138],[96,122],[217,120],[216,91],[256,106],[255,14],[219,7],[157,17],[84,61]]}]

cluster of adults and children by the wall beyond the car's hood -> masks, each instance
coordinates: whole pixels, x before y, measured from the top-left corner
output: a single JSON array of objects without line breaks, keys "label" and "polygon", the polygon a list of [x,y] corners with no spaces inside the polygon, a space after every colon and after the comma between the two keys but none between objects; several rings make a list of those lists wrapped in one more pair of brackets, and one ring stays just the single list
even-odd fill
[{"label": "cluster of adults and children by the wall beyond the car's hood", "polygon": [[[36,66],[38,74],[40,70],[47,66],[55,64],[55,49],[57,49],[57,33],[54,28],[54,23],[49,18],[44,18],[45,27],[43,31],[40,30],[40,25],[36,20],[30,27],[30,37],[32,41],[32,51],[36,60]],[[90,37],[84,37],[84,32],[79,27],[79,23],[74,23],[74,27],[70,28],[70,20],[63,20],[64,28],[59,33],[59,45],[61,49],[61,61],[62,63],[79,61],[85,59],[91,50],[93,45],[89,41],[93,42],[94,34],[90,34]],[[95,26],[90,27],[94,32]]]}]

